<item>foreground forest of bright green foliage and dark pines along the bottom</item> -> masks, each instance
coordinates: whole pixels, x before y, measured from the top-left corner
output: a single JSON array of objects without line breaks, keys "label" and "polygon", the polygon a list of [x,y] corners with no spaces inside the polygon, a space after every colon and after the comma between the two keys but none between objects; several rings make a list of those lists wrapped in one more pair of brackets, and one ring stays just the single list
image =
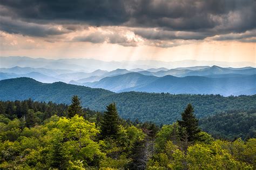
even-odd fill
[{"label": "foreground forest of bright green foliage and dark pines along the bottom", "polygon": [[[255,138],[214,139],[191,104],[182,110],[178,121],[158,126],[120,118],[115,103],[83,109],[78,96],[70,105],[0,102],[0,169],[255,169]],[[253,115],[223,113],[201,127],[228,114]]]}]

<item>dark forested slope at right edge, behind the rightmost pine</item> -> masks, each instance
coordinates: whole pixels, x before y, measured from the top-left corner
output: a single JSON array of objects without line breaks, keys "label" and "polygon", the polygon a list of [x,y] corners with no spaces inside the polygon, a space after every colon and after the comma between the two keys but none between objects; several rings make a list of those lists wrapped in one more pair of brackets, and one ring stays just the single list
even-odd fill
[{"label": "dark forested slope at right edge, behind the rightmost pine", "polygon": [[228,111],[199,121],[200,127],[214,138],[256,138],[256,111]]}]

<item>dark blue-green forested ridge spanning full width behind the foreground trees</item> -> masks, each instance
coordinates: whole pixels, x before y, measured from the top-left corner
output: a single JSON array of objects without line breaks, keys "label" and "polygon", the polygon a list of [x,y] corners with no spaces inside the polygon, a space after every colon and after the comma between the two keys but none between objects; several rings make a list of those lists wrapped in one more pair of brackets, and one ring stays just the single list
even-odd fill
[{"label": "dark blue-green forested ridge spanning full width behind the foreground trees", "polygon": [[229,110],[256,110],[256,95],[174,95],[169,93],[113,93],[104,89],[93,89],[62,82],[41,83],[30,78],[0,81],[0,100],[26,100],[70,104],[72,95],[79,95],[84,108],[104,111],[105,106],[116,102],[120,117],[135,121],[152,121],[172,124],[180,119],[180,113],[191,103],[198,118]]}]

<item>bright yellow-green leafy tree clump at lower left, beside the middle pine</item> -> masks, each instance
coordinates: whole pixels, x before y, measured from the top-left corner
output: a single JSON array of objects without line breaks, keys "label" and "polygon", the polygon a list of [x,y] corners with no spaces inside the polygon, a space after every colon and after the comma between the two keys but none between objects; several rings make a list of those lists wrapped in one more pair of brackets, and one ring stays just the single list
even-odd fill
[{"label": "bright yellow-green leafy tree clump at lower left, beside the middle pine", "polygon": [[36,169],[66,169],[70,166],[98,165],[105,157],[95,141],[99,133],[95,123],[78,115],[71,119],[61,117],[58,121],[52,120],[54,122],[48,121],[44,125],[25,128],[15,141],[4,140],[0,145],[0,162],[9,162],[10,167],[25,165]]}]

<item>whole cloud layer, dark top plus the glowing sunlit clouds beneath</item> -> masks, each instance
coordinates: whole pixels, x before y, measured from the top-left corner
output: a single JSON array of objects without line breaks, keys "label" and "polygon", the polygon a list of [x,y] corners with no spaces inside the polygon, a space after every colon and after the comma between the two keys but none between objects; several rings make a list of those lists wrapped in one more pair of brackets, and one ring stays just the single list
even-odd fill
[{"label": "whole cloud layer, dark top plus the glowing sunlit clouds beneath", "polygon": [[[0,30],[43,37],[49,42],[61,38],[123,46],[172,47],[204,39],[254,42],[255,34],[248,32],[256,29],[256,1],[0,0],[0,16]],[[108,32],[103,29],[91,32],[91,26],[104,27]],[[116,32],[115,26],[123,31]],[[241,38],[240,34],[247,37]]]}]

